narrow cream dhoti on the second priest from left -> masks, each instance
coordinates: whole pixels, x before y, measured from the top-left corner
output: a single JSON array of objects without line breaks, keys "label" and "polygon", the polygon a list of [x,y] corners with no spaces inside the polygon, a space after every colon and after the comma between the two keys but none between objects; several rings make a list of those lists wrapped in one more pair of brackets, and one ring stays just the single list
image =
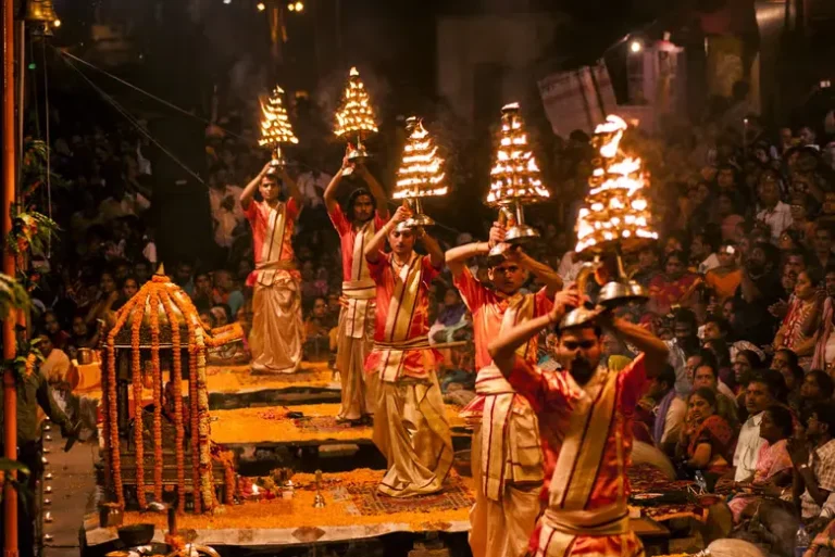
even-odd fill
[{"label": "narrow cream dhoti on the second priest from left", "polygon": [[342,282],[346,305],[339,312],[336,368],[342,384],[339,419],[358,420],[373,415],[377,376],[365,374],[365,358],[374,339],[374,299],[376,286],[371,279]]}]

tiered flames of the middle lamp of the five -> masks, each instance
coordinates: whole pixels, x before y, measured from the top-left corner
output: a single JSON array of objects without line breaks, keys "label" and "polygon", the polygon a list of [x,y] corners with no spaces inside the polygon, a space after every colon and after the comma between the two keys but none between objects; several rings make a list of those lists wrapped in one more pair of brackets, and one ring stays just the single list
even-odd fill
[{"label": "tiered flames of the middle lamp of the five", "polygon": [[397,169],[397,186],[394,199],[429,198],[446,195],[444,160],[438,148],[423,127],[423,123],[411,117],[407,121],[409,138],[403,147],[403,160]]}]

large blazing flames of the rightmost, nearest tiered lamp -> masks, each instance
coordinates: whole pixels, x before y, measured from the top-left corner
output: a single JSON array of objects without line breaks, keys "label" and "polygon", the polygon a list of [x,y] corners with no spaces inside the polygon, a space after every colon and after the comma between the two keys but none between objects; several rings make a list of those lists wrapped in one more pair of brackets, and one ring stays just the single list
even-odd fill
[{"label": "large blazing flames of the rightmost, nearest tiered lamp", "polygon": [[577,253],[600,252],[619,242],[655,240],[649,203],[644,197],[648,183],[640,159],[626,156],[620,149],[626,123],[608,116],[595,129],[593,144],[600,151],[589,178],[589,191],[577,218]]}]

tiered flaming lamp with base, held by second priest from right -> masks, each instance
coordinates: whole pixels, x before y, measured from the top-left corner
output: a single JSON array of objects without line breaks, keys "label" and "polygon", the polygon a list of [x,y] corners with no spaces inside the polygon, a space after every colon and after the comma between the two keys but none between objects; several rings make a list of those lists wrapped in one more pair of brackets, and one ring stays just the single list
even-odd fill
[{"label": "tiered flaming lamp with base, held by second priest from right", "polygon": [[[500,208],[500,219],[515,220],[504,236],[508,243],[521,243],[539,236],[535,229],[525,225],[523,207],[548,198],[550,192],[543,186],[539,167],[528,147],[519,103],[506,104],[501,109],[501,130],[496,162],[490,170],[487,204]],[[500,257],[507,248],[507,244],[495,246],[489,257]]]}]

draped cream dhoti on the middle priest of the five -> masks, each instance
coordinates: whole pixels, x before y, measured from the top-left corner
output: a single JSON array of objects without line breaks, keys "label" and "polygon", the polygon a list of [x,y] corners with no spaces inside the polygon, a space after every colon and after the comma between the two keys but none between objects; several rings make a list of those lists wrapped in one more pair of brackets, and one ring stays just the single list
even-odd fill
[{"label": "draped cream dhoti on the middle priest of the five", "polygon": [[[452,466],[452,436],[428,340],[376,343],[374,356],[382,368],[373,439],[388,464],[378,491],[391,497],[438,492]],[[402,376],[403,362],[415,357],[426,360],[424,377]]]}]

